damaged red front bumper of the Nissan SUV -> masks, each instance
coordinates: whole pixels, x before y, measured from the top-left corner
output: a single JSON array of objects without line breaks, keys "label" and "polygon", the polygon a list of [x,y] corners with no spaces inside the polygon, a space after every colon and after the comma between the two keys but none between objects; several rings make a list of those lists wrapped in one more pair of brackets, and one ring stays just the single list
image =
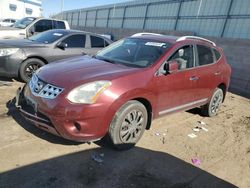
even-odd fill
[{"label": "damaged red front bumper of the Nissan SUV", "polygon": [[68,140],[87,142],[105,136],[111,119],[107,104],[73,105],[65,97],[44,99],[34,96],[29,87],[19,88],[16,106],[33,125]]}]

